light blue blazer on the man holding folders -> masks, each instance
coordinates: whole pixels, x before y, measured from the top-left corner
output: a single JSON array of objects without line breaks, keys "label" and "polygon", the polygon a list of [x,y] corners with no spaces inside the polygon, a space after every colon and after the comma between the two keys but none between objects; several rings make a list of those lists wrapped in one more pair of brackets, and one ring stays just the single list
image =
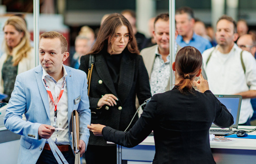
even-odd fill
[{"label": "light blue blazer on the man holding folders", "polygon": [[[64,67],[67,72],[67,117],[69,129],[72,128],[70,123],[72,111],[77,110],[79,113],[80,139],[87,146],[90,136],[87,124],[91,123],[91,110],[89,109],[87,96],[86,73],[68,66]],[[5,127],[21,135],[18,155],[19,164],[36,164],[46,143],[46,139],[38,138],[38,128],[41,124],[51,125],[48,95],[42,82],[42,76],[41,65],[25,73],[20,73],[16,78],[14,91],[11,94],[6,110]],[[75,104],[74,100],[79,96],[81,96],[81,101]],[[22,119],[23,113],[25,113],[27,121]],[[69,142],[72,145],[70,130]]]}]

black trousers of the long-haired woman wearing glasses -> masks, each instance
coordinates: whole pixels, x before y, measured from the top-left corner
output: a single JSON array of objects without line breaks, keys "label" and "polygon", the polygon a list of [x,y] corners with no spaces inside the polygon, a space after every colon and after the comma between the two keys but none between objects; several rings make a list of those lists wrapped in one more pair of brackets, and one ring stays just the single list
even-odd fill
[{"label": "black trousers of the long-haired woman wearing glasses", "polygon": [[117,146],[88,145],[84,154],[86,164],[117,164]]}]

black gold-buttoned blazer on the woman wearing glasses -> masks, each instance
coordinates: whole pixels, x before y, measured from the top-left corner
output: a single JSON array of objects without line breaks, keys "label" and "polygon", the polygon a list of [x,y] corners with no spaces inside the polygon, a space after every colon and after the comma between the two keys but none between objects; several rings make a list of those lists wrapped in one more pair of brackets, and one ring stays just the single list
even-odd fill
[{"label": "black gold-buttoned blazer on the woman wearing glasses", "polygon": [[[151,97],[148,73],[141,55],[123,52],[120,63],[118,91],[109,73],[104,53],[95,54],[95,63],[92,69],[90,86],[90,109],[91,123],[103,124],[111,128],[125,130],[136,113],[136,95],[139,104]],[[81,57],[80,70],[88,73],[89,55]],[[102,106],[97,109],[97,103],[102,95],[113,94],[119,100],[117,105]],[[138,117],[134,118],[131,128]],[[91,131],[90,131],[91,133]],[[103,137],[95,137],[92,133],[89,138],[89,145],[108,146]]]}]

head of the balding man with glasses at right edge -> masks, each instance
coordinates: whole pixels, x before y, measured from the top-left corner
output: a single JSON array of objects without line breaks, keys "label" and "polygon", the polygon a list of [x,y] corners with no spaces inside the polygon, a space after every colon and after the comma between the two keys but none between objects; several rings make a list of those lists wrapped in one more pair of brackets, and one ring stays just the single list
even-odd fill
[{"label": "head of the balding man with glasses at right edge", "polygon": [[255,57],[256,41],[254,40],[252,35],[246,34],[246,35],[240,36],[238,39],[237,45],[242,50],[250,52]]}]

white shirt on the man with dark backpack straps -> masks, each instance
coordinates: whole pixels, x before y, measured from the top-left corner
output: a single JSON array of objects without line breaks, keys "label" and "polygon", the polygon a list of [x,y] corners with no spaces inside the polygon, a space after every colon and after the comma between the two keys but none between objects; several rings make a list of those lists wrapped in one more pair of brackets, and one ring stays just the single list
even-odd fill
[{"label": "white shirt on the man with dark backpack straps", "polygon": [[[236,94],[239,92],[256,90],[256,60],[247,51],[243,51],[242,57],[246,68],[244,73],[240,53],[242,51],[236,44],[228,54],[222,54],[216,48],[210,48],[203,52],[203,64],[206,72],[209,89],[214,94]],[[212,55],[206,64],[210,53]],[[242,99],[239,124],[243,124],[252,117],[253,109],[250,99]]]}]

